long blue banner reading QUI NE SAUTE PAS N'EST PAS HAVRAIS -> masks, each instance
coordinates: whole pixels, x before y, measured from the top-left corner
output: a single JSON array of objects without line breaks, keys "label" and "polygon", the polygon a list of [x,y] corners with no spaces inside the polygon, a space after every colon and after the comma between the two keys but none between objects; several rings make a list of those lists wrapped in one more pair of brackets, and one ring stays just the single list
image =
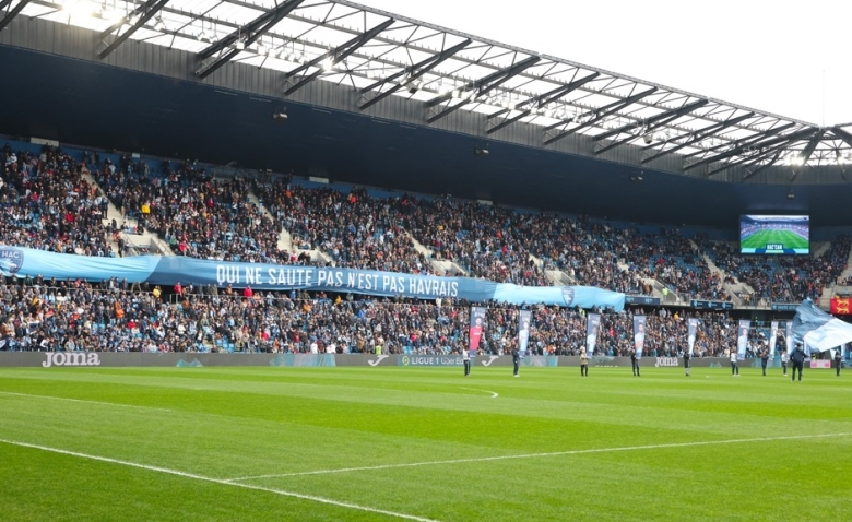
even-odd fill
[{"label": "long blue banner reading QUI NE SAUTE PAS N'EST PAS HAVRAIS", "polygon": [[185,286],[233,285],[260,290],[322,290],[418,299],[495,300],[510,305],[544,304],[563,307],[624,309],[625,295],[591,286],[519,286],[472,277],[439,277],[374,270],[235,263],[182,256],[94,258],[0,246],[0,272],[20,277],[102,281]]}]

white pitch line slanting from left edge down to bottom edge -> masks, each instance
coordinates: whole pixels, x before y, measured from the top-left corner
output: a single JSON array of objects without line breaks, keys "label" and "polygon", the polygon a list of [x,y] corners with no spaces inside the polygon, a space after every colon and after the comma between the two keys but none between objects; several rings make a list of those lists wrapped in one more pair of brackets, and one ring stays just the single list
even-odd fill
[{"label": "white pitch line slanting from left edge down to bottom edge", "polygon": [[194,478],[196,481],[203,481],[203,482],[209,482],[209,483],[213,483],[213,484],[222,484],[222,485],[225,485],[225,486],[234,486],[234,487],[241,487],[244,489],[253,489],[253,490],[257,490],[257,491],[272,493],[272,494],[275,494],[275,495],[281,495],[283,497],[298,498],[300,500],[310,500],[310,501],[313,501],[313,502],[326,503],[326,505],[329,505],[329,506],[336,506],[336,507],[340,507],[340,508],[356,509],[356,510],[359,510],[359,511],[366,511],[368,513],[387,514],[388,517],[393,517],[393,518],[397,518],[397,519],[414,520],[416,522],[439,522],[439,521],[436,521],[434,519],[426,519],[424,517],[416,517],[416,515],[413,515],[413,514],[405,514],[405,513],[397,513],[394,511],[387,511],[387,510],[383,510],[383,509],[370,508],[368,506],[359,506],[357,503],[343,502],[343,501],[340,501],[340,500],[333,500],[333,499],[330,499],[330,498],[317,497],[317,496],[313,496],[313,495],[304,495],[304,494],[300,494],[300,493],[285,491],[283,489],[274,489],[274,488],[271,488],[271,487],[251,486],[249,484],[232,483],[232,482],[228,482],[228,481],[223,481],[222,478],[213,478],[213,477],[206,477],[206,476],[203,476],[203,475],[196,475],[194,473],[187,473],[187,472],[181,472],[181,471],[178,471],[178,470],[169,470],[168,467],[149,466],[149,465],[145,465],[145,464],[139,464],[137,462],[120,461],[118,459],[110,459],[108,456],[91,455],[91,454],[87,454],[87,453],[80,453],[80,452],[76,452],[76,451],[62,450],[62,449],[59,449],[59,448],[50,448],[48,446],[31,444],[28,442],[20,442],[20,441],[16,441],[16,440],[7,440],[7,439],[0,439],[0,443],[11,444],[11,446],[19,446],[19,447],[22,447],[22,448],[32,448],[32,449],[35,449],[35,450],[48,451],[48,452],[51,452],[51,453],[59,453],[59,454],[63,454],[63,455],[79,456],[81,459],[90,459],[90,460],[93,460],[93,461],[107,462],[109,464],[120,464],[122,466],[137,467],[137,468],[140,468],[140,470],[146,470],[146,471],[151,471],[151,472],[165,473],[165,474],[168,474],[168,475],[175,475],[175,476],[185,477],[185,478]]}]

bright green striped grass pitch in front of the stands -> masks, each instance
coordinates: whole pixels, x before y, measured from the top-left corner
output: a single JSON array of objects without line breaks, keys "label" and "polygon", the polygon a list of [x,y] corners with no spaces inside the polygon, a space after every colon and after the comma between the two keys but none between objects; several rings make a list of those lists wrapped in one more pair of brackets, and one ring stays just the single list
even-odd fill
[{"label": "bright green striped grass pitch in front of the stands", "polygon": [[847,520],[851,375],[590,373],[0,368],[0,519]]}]

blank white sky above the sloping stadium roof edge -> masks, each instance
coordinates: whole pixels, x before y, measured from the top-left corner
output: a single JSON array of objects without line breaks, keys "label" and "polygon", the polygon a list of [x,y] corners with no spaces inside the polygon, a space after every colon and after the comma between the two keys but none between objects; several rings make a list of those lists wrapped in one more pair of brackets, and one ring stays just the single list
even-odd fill
[{"label": "blank white sky above the sloping stadium roof edge", "polygon": [[354,1],[764,112],[852,123],[844,0]]}]

